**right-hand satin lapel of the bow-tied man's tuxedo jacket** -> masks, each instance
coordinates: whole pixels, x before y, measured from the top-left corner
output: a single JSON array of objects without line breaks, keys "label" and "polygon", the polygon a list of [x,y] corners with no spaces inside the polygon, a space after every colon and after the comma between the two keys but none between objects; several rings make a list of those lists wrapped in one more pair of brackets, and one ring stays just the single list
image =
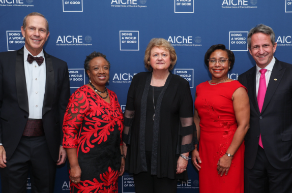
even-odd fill
[{"label": "right-hand satin lapel of the bow-tied man's tuxedo jacket", "polygon": [[46,60],[46,88],[44,95],[43,115],[52,109],[55,87],[54,69],[51,57],[45,51],[44,55]]}]

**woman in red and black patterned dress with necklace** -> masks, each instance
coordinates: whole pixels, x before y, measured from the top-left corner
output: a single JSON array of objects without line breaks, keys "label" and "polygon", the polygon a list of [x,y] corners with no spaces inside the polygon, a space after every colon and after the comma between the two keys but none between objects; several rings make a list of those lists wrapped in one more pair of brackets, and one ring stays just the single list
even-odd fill
[{"label": "woman in red and black patterned dress with necklace", "polygon": [[118,176],[124,173],[123,113],[115,93],[105,86],[109,67],[102,53],[86,56],[89,84],[78,88],[67,106],[63,147],[70,164],[71,192],[118,192]]}]

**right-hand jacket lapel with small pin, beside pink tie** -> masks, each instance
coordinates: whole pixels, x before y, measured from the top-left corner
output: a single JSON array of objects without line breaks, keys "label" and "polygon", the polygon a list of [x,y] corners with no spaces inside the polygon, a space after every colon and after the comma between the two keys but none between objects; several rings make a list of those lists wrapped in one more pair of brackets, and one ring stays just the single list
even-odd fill
[{"label": "right-hand jacket lapel with small pin, beside pink tie", "polygon": [[276,62],[275,62],[275,65],[273,67],[272,74],[271,74],[271,77],[269,80],[267,92],[265,95],[265,101],[264,101],[264,105],[262,105],[261,112],[264,112],[265,109],[267,108],[268,104],[270,103],[270,101],[274,95],[274,92],[276,91],[279,83],[281,82],[281,79],[284,75],[285,70],[286,69],[282,68],[280,61],[276,59]]}]

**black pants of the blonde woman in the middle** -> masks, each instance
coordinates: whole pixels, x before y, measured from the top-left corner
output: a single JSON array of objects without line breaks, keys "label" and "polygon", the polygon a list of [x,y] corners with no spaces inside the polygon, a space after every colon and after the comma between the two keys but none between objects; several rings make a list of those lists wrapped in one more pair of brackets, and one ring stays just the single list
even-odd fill
[{"label": "black pants of the blonde woman in the middle", "polygon": [[156,175],[151,175],[151,153],[151,151],[146,151],[148,172],[134,174],[136,193],[176,193],[177,179],[157,178]]}]

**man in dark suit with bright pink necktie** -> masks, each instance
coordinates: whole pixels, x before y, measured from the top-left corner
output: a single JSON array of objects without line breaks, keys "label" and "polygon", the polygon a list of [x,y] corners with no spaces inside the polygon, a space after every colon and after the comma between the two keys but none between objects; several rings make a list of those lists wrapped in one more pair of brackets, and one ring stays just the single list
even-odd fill
[{"label": "man in dark suit with bright pink necktie", "polygon": [[276,47],[271,27],[249,31],[256,66],[238,77],[250,100],[245,192],[292,192],[292,65],[274,57]]}]

